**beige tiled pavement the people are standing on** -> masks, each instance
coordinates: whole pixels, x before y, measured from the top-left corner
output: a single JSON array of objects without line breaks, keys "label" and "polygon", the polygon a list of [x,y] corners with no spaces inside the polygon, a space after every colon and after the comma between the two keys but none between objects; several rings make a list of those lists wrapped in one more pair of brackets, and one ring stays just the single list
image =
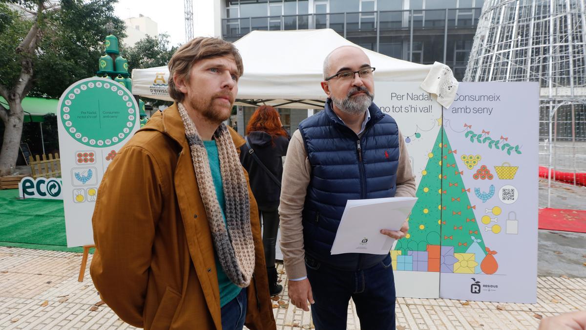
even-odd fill
[{"label": "beige tiled pavement the people are standing on", "polygon": [[[88,272],[77,282],[80,262],[79,253],[0,247],[0,328],[133,328],[100,305]],[[586,310],[586,279],[539,277],[537,295],[532,305],[398,298],[397,329],[536,329],[541,316]],[[277,329],[312,328],[309,312],[289,304],[287,287],[279,298]],[[352,304],[347,328],[360,329]]]}]

